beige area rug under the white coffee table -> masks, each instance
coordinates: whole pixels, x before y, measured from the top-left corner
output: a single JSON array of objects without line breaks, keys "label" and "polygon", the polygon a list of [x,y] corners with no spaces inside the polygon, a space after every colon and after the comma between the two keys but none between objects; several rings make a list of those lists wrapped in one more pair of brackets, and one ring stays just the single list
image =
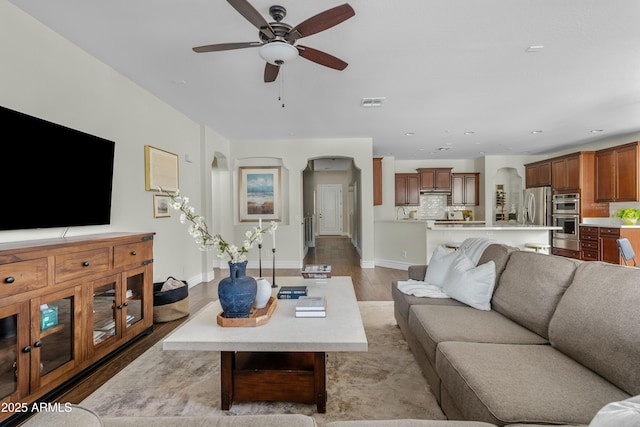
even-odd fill
[{"label": "beige area rug under the white coffee table", "polygon": [[158,343],[82,405],[103,416],[297,413],[322,426],[335,420],[445,419],[393,317],[390,301],[360,302],[369,341],[364,353],[328,353],[327,412],[286,402],[220,409],[220,354],[163,351]]}]

